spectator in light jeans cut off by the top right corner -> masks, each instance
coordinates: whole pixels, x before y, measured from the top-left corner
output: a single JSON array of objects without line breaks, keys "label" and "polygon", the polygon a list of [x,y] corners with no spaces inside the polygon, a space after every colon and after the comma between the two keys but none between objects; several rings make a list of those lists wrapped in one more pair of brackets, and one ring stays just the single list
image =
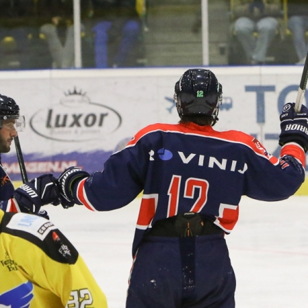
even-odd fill
[{"label": "spectator in light jeans cut off by the top right corner", "polygon": [[294,47],[298,56],[297,64],[304,64],[308,44],[308,2],[307,0],[292,0],[287,2],[288,27],[292,31]]}]

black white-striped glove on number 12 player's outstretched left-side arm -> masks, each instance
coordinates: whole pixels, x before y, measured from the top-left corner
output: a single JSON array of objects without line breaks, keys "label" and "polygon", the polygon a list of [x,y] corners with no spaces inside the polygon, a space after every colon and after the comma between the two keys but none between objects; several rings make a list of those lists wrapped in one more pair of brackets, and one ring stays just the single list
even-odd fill
[{"label": "black white-striped glove on number 12 player's outstretched left-side arm", "polygon": [[57,179],[57,183],[64,208],[73,207],[77,203],[73,197],[73,185],[76,181],[89,176],[88,172],[81,170],[79,167],[70,167],[62,172],[59,179]]}]

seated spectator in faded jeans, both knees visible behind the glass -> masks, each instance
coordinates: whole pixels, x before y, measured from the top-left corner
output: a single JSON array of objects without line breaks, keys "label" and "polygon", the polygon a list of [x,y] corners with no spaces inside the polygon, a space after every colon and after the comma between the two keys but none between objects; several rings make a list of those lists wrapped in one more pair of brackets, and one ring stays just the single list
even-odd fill
[{"label": "seated spectator in faded jeans, both knees visible behind the glass", "polygon": [[[234,30],[248,64],[264,64],[270,42],[279,27],[281,0],[234,0]],[[257,31],[257,36],[254,32]]]}]

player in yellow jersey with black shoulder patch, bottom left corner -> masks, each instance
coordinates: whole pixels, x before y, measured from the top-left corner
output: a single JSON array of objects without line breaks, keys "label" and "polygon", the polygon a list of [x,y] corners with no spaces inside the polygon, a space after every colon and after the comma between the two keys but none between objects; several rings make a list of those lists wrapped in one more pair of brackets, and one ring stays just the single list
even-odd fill
[{"label": "player in yellow jersey with black shoulder patch, bottom left corner", "polygon": [[0,210],[0,308],[107,308],[75,247],[40,216]]}]

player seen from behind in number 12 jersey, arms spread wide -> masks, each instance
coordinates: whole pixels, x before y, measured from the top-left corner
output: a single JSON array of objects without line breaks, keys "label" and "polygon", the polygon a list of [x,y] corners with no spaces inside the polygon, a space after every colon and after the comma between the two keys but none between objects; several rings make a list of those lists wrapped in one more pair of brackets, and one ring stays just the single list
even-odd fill
[{"label": "player seen from behind in number 12 jersey, arms spread wide", "polygon": [[127,308],[235,307],[224,235],[238,221],[242,196],[279,201],[303,183],[308,110],[285,105],[276,158],[246,133],[213,129],[222,86],[211,70],[185,71],[174,99],[178,124],[141,129],[101,172],[64,170],[63,203],[110,211],[143,191]]}]

